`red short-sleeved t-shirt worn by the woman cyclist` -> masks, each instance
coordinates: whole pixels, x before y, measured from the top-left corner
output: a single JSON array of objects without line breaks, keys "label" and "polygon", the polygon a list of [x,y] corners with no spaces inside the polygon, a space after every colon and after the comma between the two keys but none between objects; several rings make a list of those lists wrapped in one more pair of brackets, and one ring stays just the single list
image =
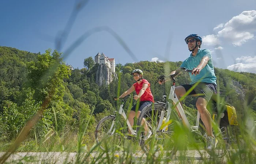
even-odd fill
[{"label": "red short-sleeved t-shirt worn by the woman cyclist", "polygon": [[142,79],[142,82],[139,83],[134,83],[133,86],[135,87],[135,91],[137,95],[140,93],[140,90],[142,89],[143,84],[146,83],[148,85],[148,88],[145,90],[143,95],[140,97],[140,101],[152,101],[154,102],[154,97],[151,93],[150,90],[150,83],[146,79]]}]

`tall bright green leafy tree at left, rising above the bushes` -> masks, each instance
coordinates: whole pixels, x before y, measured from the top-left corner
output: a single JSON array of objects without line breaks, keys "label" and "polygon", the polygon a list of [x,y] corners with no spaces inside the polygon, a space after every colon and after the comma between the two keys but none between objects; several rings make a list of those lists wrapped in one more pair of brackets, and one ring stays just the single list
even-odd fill
[{"label": "tall bright green leafy tree at left, rising above the bushes", "polygon": [[37,101],[63,101],[64,82],[71,75],[71,70],[62,62],[61,54],[56,50],[51,54],[48,49],[37,56],[37,62],[29,62],[29,86],[35,90]]}]

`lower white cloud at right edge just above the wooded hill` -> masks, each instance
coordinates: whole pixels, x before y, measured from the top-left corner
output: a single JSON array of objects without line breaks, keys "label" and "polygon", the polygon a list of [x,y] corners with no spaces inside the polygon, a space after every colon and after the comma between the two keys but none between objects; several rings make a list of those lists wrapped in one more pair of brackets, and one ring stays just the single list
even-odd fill
[{"label": "lower white cloud at right edge just above the wooded hill", "polygon": [[236,72],[256,73],[256,56],[241,56],[236,58],[236,64],[230,65],[227,69]]}]

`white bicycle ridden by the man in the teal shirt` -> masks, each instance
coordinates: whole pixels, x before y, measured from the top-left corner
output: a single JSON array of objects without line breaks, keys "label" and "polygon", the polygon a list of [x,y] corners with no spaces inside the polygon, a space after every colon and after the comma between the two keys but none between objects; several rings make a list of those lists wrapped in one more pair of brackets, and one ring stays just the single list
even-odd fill
[{"label": "white bicycle ridden by the man in the teal shirt", "polygon": [[[181,71],[191,72],[192,70],[184,69]],[[154,104],[146,106],[142,110],[137,122],[137,137],[140,141],[140,146],[142,149],[150,155],[162,159],[170,158],[177,152],[178,147],[182,144],[181,140],[179,139],[184,137],[184,134],[187,134],[188,138],[190,140],[192,138],[192,140],[195,142],[205,143],[205,138],[207,137],[206,129],[202,124],[200,124],[202,121],[198,111],[196,117],[196,125],[191,126],[189,124],[187,116],[185,115],[185,112],[182,109],[182,106],[175,94],[175,77],[177,75],[178,73],[170,75],[168,78],[162,75],[159,78],[164,82],[169,80],[173,82],[170,89],[169,99],[174,102],[174,104],[176,104],[182,121],[178,118],[177,114],[172,109],[173,104],[166,100],[166,95],[163,95],[162,102],[155,102]],[[214,113],[212,116],[212,118],[216,118],[217,114]],[[142,126],[140,126],[142,118],[146,119],[148,128],[152,132],[151,137],[146,141],[142,140],[144,134],[144,129]],[[218,144],[214,151],[208,153],[210,155],[222,157],[225,155],[230,145],[229,127],[219,126],[219,124],[214,123],[213,120],[212,122],[214,136],[217,138]]]}]

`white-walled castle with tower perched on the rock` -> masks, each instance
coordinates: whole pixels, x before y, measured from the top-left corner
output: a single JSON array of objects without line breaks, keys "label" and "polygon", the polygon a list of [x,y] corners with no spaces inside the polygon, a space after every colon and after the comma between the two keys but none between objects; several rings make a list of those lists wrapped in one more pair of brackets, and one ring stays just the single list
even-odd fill
[{"label": "white-walled castle with tower perched on the rock", "polygon": [[99,65],[106,64],[112,70],[112,73],[116,72],[114,58],[106,57],[103,53],[99,54],[99,52],[98,52],[98,54],[96,56],[94,56],[94,61],[95,61],[95,63],[98,63]]}]

